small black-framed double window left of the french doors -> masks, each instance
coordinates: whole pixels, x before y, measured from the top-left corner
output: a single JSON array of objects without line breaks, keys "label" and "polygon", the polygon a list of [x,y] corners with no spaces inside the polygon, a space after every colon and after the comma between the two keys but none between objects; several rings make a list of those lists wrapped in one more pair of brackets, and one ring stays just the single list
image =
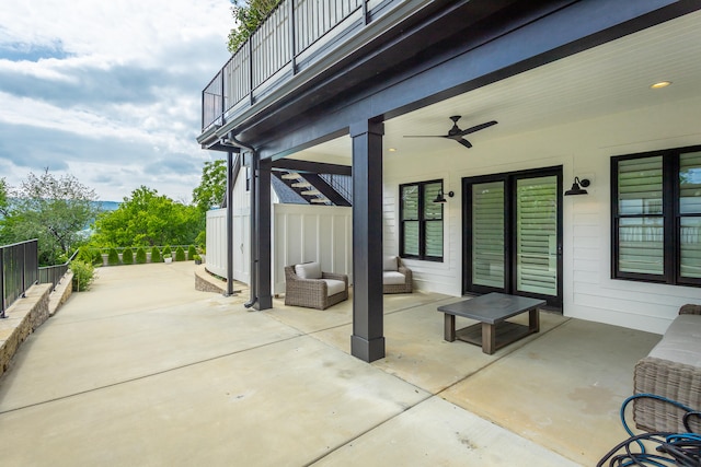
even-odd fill
[{"label": "small black-framed double window left of the french doors", "polygon": [[443,261],[443,180],[400,185],[400,256]]}]

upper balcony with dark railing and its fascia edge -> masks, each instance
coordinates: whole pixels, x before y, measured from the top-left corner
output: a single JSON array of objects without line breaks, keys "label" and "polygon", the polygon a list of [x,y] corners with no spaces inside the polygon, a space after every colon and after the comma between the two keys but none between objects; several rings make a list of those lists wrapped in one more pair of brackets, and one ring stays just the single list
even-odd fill
[{"label": "upper balcony with dark railing and its fascia edge", "polygon": [[[206,149],[436,11],[415,0],[283,0],[202,93]],[[444,7],[445,8],[445,7]],[[234,131],[238,133],[238,131]]]}]

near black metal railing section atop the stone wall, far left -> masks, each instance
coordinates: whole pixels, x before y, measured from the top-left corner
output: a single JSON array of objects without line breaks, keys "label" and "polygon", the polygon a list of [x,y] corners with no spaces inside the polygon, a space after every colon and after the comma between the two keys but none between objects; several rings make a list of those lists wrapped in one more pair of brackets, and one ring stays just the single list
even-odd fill
[{"label": "near black metal railing section atop the stone wall, far left", "polygon": [[0,289],[2,303],[0,318],[28,288],[38,281],[38,241],[30,240],[0,246]]}]

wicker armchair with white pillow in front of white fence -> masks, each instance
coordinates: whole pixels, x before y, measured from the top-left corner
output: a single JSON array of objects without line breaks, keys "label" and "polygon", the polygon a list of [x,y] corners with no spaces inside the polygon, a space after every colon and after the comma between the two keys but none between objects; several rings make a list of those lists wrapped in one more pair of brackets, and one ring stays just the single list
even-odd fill
[{"label": "wicker armchair with white pillow in front of white fence", "polygon": [[[285,304],[291,306],[306,306],[309,308],[326,310],[336,303],[348,300],[348,276],[321,272],[320,279],[303,279],[295,271],[295,266],[285,267]],[[343,290],[329,295],[329,283],[342,281]]]}]

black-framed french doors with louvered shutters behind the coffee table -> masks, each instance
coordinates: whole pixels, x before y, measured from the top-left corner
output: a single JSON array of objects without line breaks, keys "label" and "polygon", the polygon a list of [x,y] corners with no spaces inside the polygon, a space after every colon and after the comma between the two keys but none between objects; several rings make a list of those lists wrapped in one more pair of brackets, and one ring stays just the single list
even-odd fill
[{"label": "black-framed french doors with louvered shutters behind the coffee table", "polygon": [[562,307],[562,167],[463,178],[463,292]]}]

